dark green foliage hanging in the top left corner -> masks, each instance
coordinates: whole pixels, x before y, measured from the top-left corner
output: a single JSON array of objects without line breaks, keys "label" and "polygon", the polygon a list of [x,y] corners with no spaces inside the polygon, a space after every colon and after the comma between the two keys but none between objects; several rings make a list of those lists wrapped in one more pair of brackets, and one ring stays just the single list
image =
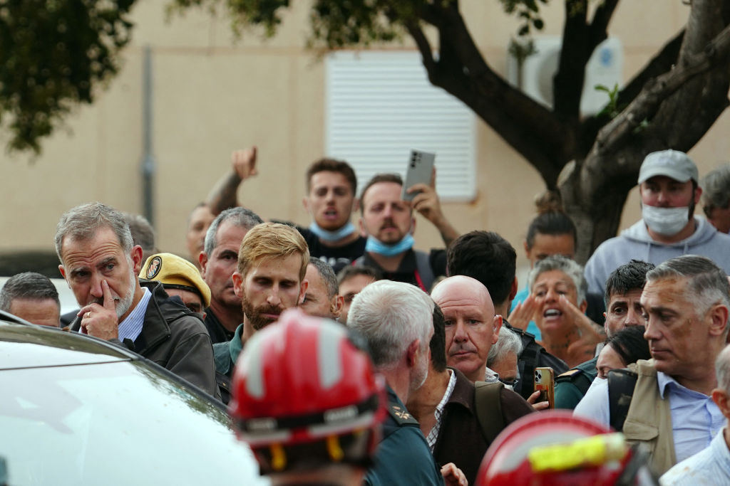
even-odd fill
[{"label": "dark green foliage hanging in the top left corner", "polygon": [[134,0],[0,0],[0,122],[11,150],[40,151],[75,103],[118,71]]}]

